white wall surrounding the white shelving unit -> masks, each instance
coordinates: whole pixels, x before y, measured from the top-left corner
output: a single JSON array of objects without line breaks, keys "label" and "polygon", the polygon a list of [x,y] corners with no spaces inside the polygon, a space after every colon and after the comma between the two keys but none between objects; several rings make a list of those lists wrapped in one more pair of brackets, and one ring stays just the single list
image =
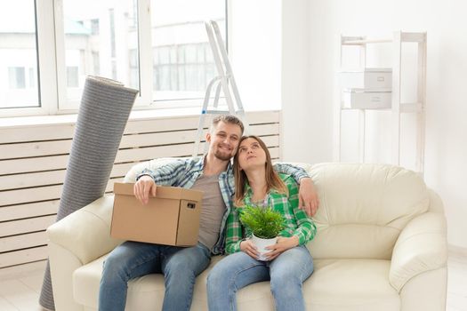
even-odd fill
[{"label": "white wall surrounding the white shelving unit", "polygon": [[286,161],[334,159],[335,74],[341,34],[391,36],[395,30],[427,31],[425,181],[445,203],[448,242],[467,247],[467,3],[297,0],[282,5]]}]

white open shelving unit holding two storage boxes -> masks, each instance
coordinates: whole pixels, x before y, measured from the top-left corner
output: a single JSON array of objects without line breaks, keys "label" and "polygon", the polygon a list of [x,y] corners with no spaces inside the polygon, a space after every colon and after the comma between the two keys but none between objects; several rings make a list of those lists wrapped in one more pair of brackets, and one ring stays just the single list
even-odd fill
[{"label": "white open shelving unit holding two storage boxes", "polygon": [[[378,110],[391,113],[391,163],[400,163],[400,116],[404,113],[416,114],[416,160],[415,170],[423,174],[424,163],[424,129],[425,129],[425,91],[426,91],[426,33],[413,33],[396,31],[391,39],[366,39],[365,36],[341,36],[341,68],[343,48],[354,45],[359,47],[358,69],[366,68],[366,47],[368,44],[392,44],[392,86],[391,86],[391,108],[379,108]],[[417,72],[416,72],[416,100],[415,102],[401,102],[401,67],[403,44],[417,44]],[[365,140],[366,140],[366,110],[372,108],[343,108],[343,95],[340,89],[340,105],[338,117],[337,155],[341,161],[342,145],[342,111],[354,109],[359,111],[359,160],[365,162]]]}]

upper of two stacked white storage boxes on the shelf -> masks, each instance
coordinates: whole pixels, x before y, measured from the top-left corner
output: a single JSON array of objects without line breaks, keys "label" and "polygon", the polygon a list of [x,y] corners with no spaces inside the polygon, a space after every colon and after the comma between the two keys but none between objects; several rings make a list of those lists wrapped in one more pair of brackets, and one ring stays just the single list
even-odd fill
[{"label": "upper of two stacked white storage boxes on the shelf", "polygon": [[391,68],[364,68],[340,72],[342,89],[366,89],[391,91]]}]

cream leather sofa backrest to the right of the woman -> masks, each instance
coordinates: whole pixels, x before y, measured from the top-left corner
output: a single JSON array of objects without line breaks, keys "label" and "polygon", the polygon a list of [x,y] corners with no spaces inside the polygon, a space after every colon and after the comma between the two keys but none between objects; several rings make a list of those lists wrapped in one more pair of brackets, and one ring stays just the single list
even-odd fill
[{"label": "cream leather sofa backrest to the right of the woman", "polygon": [[319,195],[309,243],[314,258],[391,259],[400,231],[428,210],[429,192],[415,171],[386,164],[299,165]]}]

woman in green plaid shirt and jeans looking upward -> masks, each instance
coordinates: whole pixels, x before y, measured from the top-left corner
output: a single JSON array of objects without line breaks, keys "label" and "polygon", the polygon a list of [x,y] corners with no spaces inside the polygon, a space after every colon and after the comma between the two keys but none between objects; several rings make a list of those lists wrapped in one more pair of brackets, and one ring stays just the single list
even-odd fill
[{"label": "woman in green plaid shirt and jeans looking upward", "polygon": [[[293,178],[272,169],[270,153],[262,140],[244,136],[234,158],[234,208],[227,219],[226,251],[207,279],[210,311],[237,310],[236,292],[248,284],[270,281],[277,310],[305,310],[302,283],[313,272],[310,252],[304,246],[316,234],[316,227],[298,208],[298,188]],[[280,211],[286,227],[278,242],[269,246],[267,260],[258,260],[254,243],[242,234],[239,221],[246,205],[270,206]],[[247,230],[246,230],[247,231]]]}]

